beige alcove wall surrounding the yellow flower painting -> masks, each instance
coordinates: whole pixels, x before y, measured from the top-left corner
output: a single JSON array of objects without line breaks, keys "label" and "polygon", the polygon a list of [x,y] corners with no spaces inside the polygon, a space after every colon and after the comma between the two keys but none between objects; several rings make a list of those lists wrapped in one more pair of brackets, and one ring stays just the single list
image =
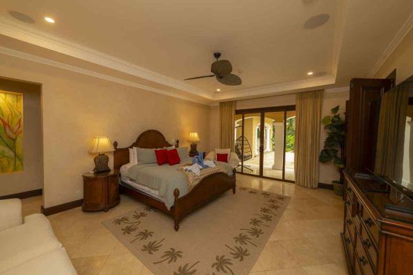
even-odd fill
[{"label": "beige alcove wall surrounding the yellow flower painting", "polygon": [[0,90],[23,94],[23,171],[0,174],[0,197],[41,189],[41,86],[0,78]]}]

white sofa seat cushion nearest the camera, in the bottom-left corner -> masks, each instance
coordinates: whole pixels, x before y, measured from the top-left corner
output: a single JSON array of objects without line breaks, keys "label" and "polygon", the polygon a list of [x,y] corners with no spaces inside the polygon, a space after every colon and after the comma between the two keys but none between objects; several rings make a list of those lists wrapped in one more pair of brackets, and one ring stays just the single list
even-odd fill
[{"label": "white sofa seat cushion nearest the camera, in the bottom-left corner", "polygon": [[65,248],[53,250],[37,256],[21,265],[13,267],[1,275],[76,275]]}]

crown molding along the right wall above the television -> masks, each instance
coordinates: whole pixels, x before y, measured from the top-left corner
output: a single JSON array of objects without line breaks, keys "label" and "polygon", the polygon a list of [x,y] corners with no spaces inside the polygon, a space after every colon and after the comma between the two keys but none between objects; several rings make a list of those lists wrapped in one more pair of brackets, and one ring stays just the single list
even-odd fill
[{"label": "crown molding along the right wall above the television", "polygon": [[392,41],[390,41],[388,47],[385,48],[384,52],[381,54],[377,62],[374,64],[372,67],[370,73],[368,74],[368,77],[372,78],[374,77],[377,72],[379,72],[379,69],[383,66],[386,60],[390,57],[390,55],[396,50],[396,47],[399,46],[401,41],[405,38],[405,36],[412,30],[413,28],[413,12],[410,14],[410,16],[407,18],[405,23],[401,26],[399,32],[396,33]]}]

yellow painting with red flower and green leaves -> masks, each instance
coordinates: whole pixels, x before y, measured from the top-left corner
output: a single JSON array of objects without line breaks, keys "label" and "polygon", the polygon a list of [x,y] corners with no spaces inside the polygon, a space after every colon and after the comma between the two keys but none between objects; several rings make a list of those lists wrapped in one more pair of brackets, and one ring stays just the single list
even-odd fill
[{"label": "yellow painting with red flower and green leaves", "polygon": [[0,173],[23,170],[23,94],[0,91]]}]

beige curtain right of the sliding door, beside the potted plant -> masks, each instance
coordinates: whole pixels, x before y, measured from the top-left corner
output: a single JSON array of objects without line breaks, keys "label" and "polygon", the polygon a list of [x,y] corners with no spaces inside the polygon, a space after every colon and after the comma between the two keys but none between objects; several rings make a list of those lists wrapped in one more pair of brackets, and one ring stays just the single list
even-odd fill
[{"label": "beige curtain right of the sliding door, beside the potted plant", "polygon": [[323,92],[304,91],[295,97],[295,183],[318,187],[319,143]]}]

